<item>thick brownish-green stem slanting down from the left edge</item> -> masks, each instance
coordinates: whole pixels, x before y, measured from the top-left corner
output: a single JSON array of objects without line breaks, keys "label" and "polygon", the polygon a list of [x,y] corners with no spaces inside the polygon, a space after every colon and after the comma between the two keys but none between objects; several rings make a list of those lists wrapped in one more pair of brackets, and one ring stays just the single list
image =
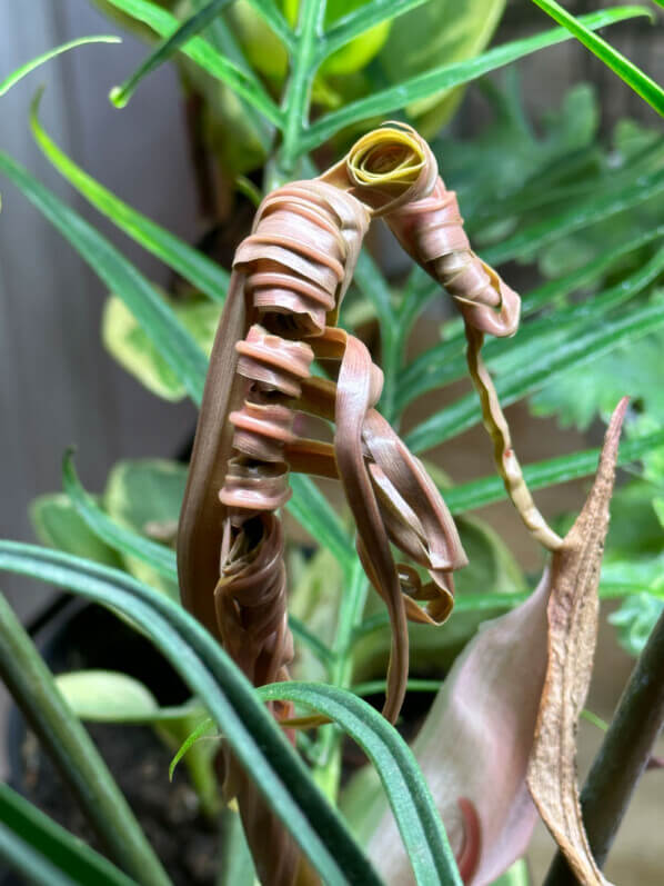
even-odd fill
[{"label": "thick brownish-green stem slanting down from the left edge", "polygon": [[60,769],[113,860],[138,883],[169,886],[161,862],[92,739],[0,594],[0,677]]}]

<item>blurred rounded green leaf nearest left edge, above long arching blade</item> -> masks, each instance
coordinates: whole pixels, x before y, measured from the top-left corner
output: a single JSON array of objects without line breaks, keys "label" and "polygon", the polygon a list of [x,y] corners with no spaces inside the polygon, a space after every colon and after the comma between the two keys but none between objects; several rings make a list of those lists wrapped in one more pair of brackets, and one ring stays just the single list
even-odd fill
[{"label": "blurred rounded green leaf nearest left edge, above long arching blade", "polygon": [[30,520],[37,537],[44,545],[107,566],[120,566],[120,557],[112,546],[102,541],[87,526],[62,492],[36,498],[30,504]]}]

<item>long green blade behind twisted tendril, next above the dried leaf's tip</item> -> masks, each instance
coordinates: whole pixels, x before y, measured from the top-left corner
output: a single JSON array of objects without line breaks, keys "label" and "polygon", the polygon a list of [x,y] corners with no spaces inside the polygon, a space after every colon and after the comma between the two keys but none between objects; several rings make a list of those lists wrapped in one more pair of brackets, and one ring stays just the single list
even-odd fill
[{"label": "long green blade behind twisted tendril, next above the dried leaf's tip", "polygon": [[[607,354],[617,344],[633,341],[657,329],[662,323],[664,323],[664,307],[655,303],[631,310],[597,328],[581,332],[575,339],[557,347],[554,351],[542,354],[539,359],[534,359],[520,371],[513,370],[507,378],[499,379],[496,390],[501,402],[503,406],[509,406],[560,372],[580,368]],[[442,412],[417,425],[406,437],[406,442],[413,451],[420,452],[462,434],[480,420],[477,397],[474,392],[469,394]]]}]

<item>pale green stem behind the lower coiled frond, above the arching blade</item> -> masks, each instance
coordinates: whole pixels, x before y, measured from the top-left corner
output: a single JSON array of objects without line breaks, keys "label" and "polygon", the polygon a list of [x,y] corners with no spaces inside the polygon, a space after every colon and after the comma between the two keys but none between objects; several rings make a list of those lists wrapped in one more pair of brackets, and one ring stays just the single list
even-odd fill
[{"label": "pale green stem behind the lower coiled frond, above the arching blade", "polygon": [[[353,680],[353,635],[366,601],[366,577],[359,559],[349,569],[345,583],[348,590],[341,599],[333,644],[336,658],[330,670],[330,683],[343,689],[350,688]],[[320,763],[313,770],[314,780],[331,800],[336,800],[339,793],[341,738],[342,733],[336,726],[322,727],[318,747]]]}]

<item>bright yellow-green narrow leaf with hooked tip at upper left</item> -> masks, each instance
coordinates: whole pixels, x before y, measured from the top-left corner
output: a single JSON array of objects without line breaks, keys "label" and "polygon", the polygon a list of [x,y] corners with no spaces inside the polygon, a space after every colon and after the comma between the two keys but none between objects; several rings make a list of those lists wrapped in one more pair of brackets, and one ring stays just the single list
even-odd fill
[{"label": "bright yellow-green narrow leaf with hooked tip at upper left", "polygon": [[99,209],[113,225],[124,231],[132,240],[189,280],[199,291],[213,301],[223,302],[229,286],[229,275],[202,252],[192,249],[180,238],[167,231],[151,219],[132,209],[115,197],[103,185],[84,172],[50,138],[39,121],[38,93],[32,102],[30,126],[32,135],[48,160],[56,169]]}]

